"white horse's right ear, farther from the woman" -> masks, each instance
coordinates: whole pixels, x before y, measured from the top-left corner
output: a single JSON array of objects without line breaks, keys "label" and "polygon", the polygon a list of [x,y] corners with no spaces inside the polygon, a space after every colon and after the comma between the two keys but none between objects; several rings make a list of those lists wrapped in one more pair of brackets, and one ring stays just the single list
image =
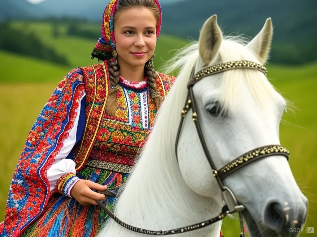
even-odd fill
[{"label": "white horse's right ear, farther from the woman", "polygon": [[249,42],[247,47],[253,51],[262,64],[265,64],[271,49],[273,25],[271,18],[265,21],[262,30]]}]

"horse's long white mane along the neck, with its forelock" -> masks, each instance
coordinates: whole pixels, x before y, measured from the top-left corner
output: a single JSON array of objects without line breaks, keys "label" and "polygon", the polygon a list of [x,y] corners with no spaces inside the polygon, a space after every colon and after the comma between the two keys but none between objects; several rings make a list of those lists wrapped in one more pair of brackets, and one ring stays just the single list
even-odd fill
[{"label": "horse's long white mane along the neck, with its forelock", "polygon": [[[248,51],[242,43],[239,38],[224,39],[219,50],[221,62],[250,60],[259,63],[255,54]],[[220,62],[219,57],[217,62],[211,64]],[[156,124],[133,172],[127,183],[122,185],[114,205],[114,215],[129,225],[151,230],[179,228],[209,219],[210,216],[205,213],[210,214],[214,210],[217,215],[221,209],[210,198],[198,195],[186,185],[175,155],[175,138],[188,92],[187,83],[195,63],[201,63],[198,58],[198,43],[194,42],[178,51],[164,65],[163,70],[167,74],[181,70],[157,114]],[[230,70],[224,73],[222,80],[221,102],[226,108],[233,109],[233,100],[236,93],[239,93],[236,88],[242,83],[247,83],[255,98],[263,105],[272,99],[273,87],[259,71]],[[154,222],[151,221],[153,216]],[[174,222],[167,223],[167,220]],[[200,231],[213,230],[219,233],[220,227],[221,222],[217,222]],[[138,235],[121,227],[109,217],[99,236]],[[188,236],[197,236],[197,232]]]}]

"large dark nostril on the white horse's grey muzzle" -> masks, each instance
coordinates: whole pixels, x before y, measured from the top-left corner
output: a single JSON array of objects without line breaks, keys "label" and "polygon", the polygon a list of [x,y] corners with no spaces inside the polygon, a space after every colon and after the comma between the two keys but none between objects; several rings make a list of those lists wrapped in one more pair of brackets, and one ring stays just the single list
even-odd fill
[{"label": "large dark nostril on the white horse's grey muzzle", "polygon": [[279,203],[269,203],[264,210],[264,224],[276,231],[281,232],[284,224],[287,222],[283,206]]}]

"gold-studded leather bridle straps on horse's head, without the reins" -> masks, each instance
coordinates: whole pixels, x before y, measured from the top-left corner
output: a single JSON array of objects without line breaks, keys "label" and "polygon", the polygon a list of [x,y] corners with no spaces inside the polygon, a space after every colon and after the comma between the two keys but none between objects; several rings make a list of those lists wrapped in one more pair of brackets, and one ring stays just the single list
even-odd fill
[{"label": "gold-studded leather bridle straps on horse's head, without the reins", "polygon": [[243,217],[242,217],[242,211],[245,209],[245,207],[241,204],[238,204],[235,195],[233,192],[226,186],[223,185],[222,180],[227,177],[229,174],[232,174],[233,172],[237,171],[241,167],[245,166],[246,164],[249,164],[252,161],[255,161],[260,158],[267,157],[269,155],[283,155],[287,158],[289,157],[289,151],[282,147],[281,145],[268,145],[263,146],[260,148],[253,149],[246,154],[236,158],[234,161],[230,162],[229,164],[225,165],[221,169],[217,170],[216,165],[214,164],[212,157],[210,155],[210,152],[208,151],[208,147],[206,145],[206,142],[204,140],[203,132],[200,127],[199,119],[198,119],[198,112],[195,102],[195,97],[193,93],[193,86],[196,84],[196,82],[200,81],[201,79],[211,76],[223,71],[237,69],[237,68],[248,68],[248,69],[255,69],[261,71],[265,76],[267,75],[267,69],[260,65],[256,64],[254,62],[250,61],[234,61],[234,62],[228,62],[224,64],[217,64],[211,67],[207,67],[199,72],[197,72],[194,75],[194,68],[191,71],[191,80],[189,81],[187,88],[188,88],[188,94],[185,102],[185,106],[182,110],[181,114],[181,120],[178,127],[178,132],[176,136],[176,142],[175,142],[175,153],[176,153],[176,159],[178,161],[178,141],[182,129],[182,125],[184,122],[184,118],[187,114],[187,112],[191,109],[192,110],[192,120],[195,122],[197,134],[200,140],[200,143],[203,147],[205,156],[210,164],[210,167],[212,168],[213,176],[216,178],[217,183],[222,191],[222,197],[223,197],[223,203],[225,206],[228,206],[230,213],[239,213],[239,221],[240,221],[240,228],[241,228],[241,235],[240,237],[244,237],[243,232]]}]

